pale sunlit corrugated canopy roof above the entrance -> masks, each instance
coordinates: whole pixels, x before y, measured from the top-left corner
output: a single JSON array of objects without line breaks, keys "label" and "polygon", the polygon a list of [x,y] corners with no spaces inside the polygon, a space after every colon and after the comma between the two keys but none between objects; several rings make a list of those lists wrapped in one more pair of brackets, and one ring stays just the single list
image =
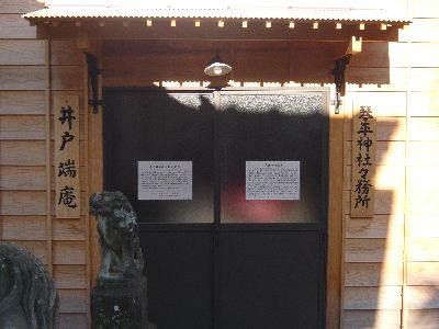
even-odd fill
[{"label": "pale sunlit corrugated canopy roof above the entrance", "polygon": [[31,21],[57,19],[240,19],[240,20],[293,20],[293,21],[335,21],[362,23],[409,23],[397,12],[383,9],[352,8],[136,8],[136,7],[52,7],[24,15]]}]

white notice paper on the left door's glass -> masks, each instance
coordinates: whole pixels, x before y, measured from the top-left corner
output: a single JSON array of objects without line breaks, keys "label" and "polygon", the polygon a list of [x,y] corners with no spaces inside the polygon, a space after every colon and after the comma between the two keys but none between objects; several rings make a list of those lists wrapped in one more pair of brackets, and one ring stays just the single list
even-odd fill
[{"label": "white notice paper on the left door's glass", "polygon": [[138,161],[138,200],[192,200],[192,161]]}]

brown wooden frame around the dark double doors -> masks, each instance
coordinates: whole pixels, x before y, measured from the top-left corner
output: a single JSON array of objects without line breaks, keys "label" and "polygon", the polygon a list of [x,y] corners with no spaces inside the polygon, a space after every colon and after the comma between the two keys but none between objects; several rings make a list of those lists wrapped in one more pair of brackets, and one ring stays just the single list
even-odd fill
[{"label": "brown wooden frame around the dark double doors", "polygon": [[[85,88],[85,100],[89,98],[89,88]],[[185,88],[172,89],[188,91]],[[206,89],[194,89],[206,90]],[[329,172],[328,172],[328,222],[327,222],[327,263],[326,263],[326,328],[340,328],[341,311],[341,287],[342,287],[342,207],[344,207],[344,111],[336,114],[329,105],[329,88],[227,88],[224,91],[327,91],[328,106],[328,147],[329,147]],[[102,78],[99,80],[99,95],[102,98]],[[101,106],[100,106],[101,107]],[[100,192],[103,189],[103,136],[102,136],[102,109],[97,114],[92,113],[92,107],[88,106],[88,192]],[[340,109],[342,110],[342,109]],[[89,220],[89,269],[90,285],[94,286],[94,277],[99,272],[99,236],[94,220]]]}]

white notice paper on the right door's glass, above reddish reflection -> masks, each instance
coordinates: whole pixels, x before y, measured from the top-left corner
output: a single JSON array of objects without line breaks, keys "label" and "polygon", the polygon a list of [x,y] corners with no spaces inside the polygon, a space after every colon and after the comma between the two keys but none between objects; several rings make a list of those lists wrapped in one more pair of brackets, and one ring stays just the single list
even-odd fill
[{"label": "white notice paper on the right door's glass, above reddish reflection", "polygon": [[300,161],[246,161],[246,200],[300,200]]}]

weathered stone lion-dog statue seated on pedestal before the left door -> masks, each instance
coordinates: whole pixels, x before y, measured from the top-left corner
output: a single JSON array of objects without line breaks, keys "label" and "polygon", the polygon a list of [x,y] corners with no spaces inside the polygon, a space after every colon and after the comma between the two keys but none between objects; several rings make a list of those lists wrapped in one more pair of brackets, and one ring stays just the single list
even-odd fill
[{"label": "weathered stone lion-dog statue seated on pedestal before the left door", "polygon": [[90,214],[97,217],[101,245],[98,285],[142,277],[144,259],[137,216],[128,198],[122,192],[94,193],[90,197]]}]

